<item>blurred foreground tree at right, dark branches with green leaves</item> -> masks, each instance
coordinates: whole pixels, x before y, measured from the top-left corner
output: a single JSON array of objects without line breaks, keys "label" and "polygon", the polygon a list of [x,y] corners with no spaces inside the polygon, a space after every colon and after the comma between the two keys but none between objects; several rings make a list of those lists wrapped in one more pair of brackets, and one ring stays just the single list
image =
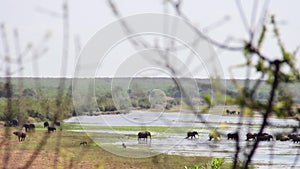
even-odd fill
[{"label": "blurred foreground tree at right, dark branches with green leaves", "polygon": [[[238,65],[237,67],[243,67],[248,72],[248,77],[245,79],[244,84],[240,85],[236,82],[235,79],[233,80],[233,84],[235,84],[235,87],[238,89],[238,93],[230,93],[232,98],[227,99],[226,101],[230,101],[231,104],[237,104],[240,106],[240,109],[242,110],[240,114],[240,118],[242,119],[245,115],[253,115],[254,110],[260,110],[262,111],[263,115],[263,121],[260,124],[258,134],[262,134],[265,131],[266,126],[269,125],[269,117],[271,115],[277,115],[278,117],[286,117],[290,112],[292,105],[293,105],[293,99],[292,95],[288,94],[287,92],[280,91],[281,85],[288,85],[293,84],[296,82],[299,82],[300,75],[299,70],[296,68],[296,54],[297,49],[295,51],[288,51],[286,47],[283,45],[283,40],[280,37],[280,31],[278,29],[278,24],[275,16],[268,17],[266,16],[266,8],[262,9],[262,17],[260,18],[262,22],[260,22],[258,25],[248,25],[246,23],[247,20],[244,16],[244,11],[241,7],[241,2],[236,1],[236,4],[238,6],[241,18],[243,19],[243,26],[246,28],[246,32],[248,37],[246,39],[243,39],[242,43],[239,44],[239,46],[230,46],[228,44],[223,44],[215,41],[214,39],[205,36],[201,33],[201,31],[197,27],[193,27],[194,31],[198,34],[199,39],[204,39],[209,41],[212,45],[218,48],[222,48],[229,51],[236,51],[242,53],[245,63],[242,65]],[[173,1],[169,0],[166,1],[164,5],[171,5],[176,12],[176,15],[180,18],[186,19],[190,21],[190,18],[188,15],[184,13],[184,11],[181,9],[182,7],[182,1]],[[121,13],[116,3],[114,3],[112,0],[109,0],[109,5],[112,9],[112,12],[115,14],[116,17],[120,17]],[[253,9],[256,9],[255,6],[256,3],[254,3]],[[256,10],[252,11],[252,16],[256,16]],[[255,18],[254,18],[255,19]],[[124,30],[129,34],[131,32],[130,25],[127,25],[127,23],[122,23]],[[271,30],[268,28],[271,27]],[[258,29],[256,29],[258,28]],[[174,28],[175,29],[175,28]],[[275,37],[275,41],[277,45],[274,45],[273,47],[279,49],[278,56],[279,57],[273,57],[270,54],[264,54],[263,53],[263,45],[266,42],[266,36],[272,33],[272,36]],[[149,45],[150,44],[150,45]],[[170,63],[170,57],[169,57],[169,51],[176,50],[174,47],[174,40],[170,40],[169,42],[170,46],[162,47],[162,46],[151,46],[151,43],[145,42],[141,39],[138,39],[136,41],[132,41],[132,45],[137,47],[139,49],[139,46],[143,46],[145,48],[159,48],[160,50],[165,50],[166,52],[160,52],[162,60],[165,60],[165,62],[162,61],[162,63],[165,63],[165,68],[169,69],[170,72],[174,73],[173,75],[176,75],[175,69],[172,67],[172,65],[168,64]],[[260,75],[260,77],[255,81],[253,86],[250,86],[250,77],[249,72],[250,70],[256,70],[256,73]],[[183,71],[183,70],[182,70]],[[267,95],[264,95],[266,97],[264,100],[257,100],[255,99],[257,89],[261,86],[263,82],[266,82],[266,84],[269,87],[269,90],[267,91]],[[183,96],[186,95],[188,91],[186,91],[182,86],[179,86],[181,94]],[[175,90],[176,91],[176,90]],[[175,92],[176,93],[176,92]],[[278,96],[277,94],[281,94]],[[178,96],[178,95],[174,95]],[[182,97],[182,96],[181,96]],[[209,97],[208,97],[209,98]],[[187,103],[190,107],[192,106],[192,101],[189,97],[184,97],[185,103]],[[214,106],[215,104],[210,104],[210,99],[206,99],[209,107]],[[276,101],[277,100],[277,101]],[[223,100],[225,102],[225,100]],[[276,106],[274,106],[276,105]],[[196,112],[196,110],[194,110]],[[294,116],[296,120],[299,121],[299,115]],[[198,116],[201,117],[201,116]],[[236,132],[239,133],[241,126],[238,126],[236,128]],[[241,144],[239,142],[240,139],[236,140],[236,151],[235,156],[233,158],[233,168],[249,168],[252,158],[256,152],[256,149],[259,147],[260,141],[256,141],[253,146],[247,145],[247,148],[250,149],[241,149]],[[245,156],[246,160],[242,161],[241,166],[239,166],[240,156]]]}]

